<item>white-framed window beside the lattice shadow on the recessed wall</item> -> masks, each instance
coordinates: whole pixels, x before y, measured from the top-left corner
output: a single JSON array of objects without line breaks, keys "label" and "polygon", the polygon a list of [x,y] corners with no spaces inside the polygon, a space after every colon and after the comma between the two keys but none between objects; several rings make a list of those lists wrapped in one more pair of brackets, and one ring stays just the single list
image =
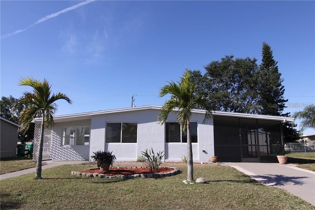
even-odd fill
[{"label": "white-framed window beside the lattice shadow on the recessed wall", "polygon": [[90,127],[64,127],[63,145],[89,145]]}]

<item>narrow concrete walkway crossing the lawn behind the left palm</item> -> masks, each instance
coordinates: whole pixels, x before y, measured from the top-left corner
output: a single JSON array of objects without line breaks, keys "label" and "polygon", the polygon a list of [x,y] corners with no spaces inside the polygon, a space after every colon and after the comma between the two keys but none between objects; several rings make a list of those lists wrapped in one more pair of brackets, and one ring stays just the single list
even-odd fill
[{"label": "narrow concrete walkway crossing the lawn behind the left palm", "polygon": [[[41,169],[48,169],[55,166],[61,166],[61,165],[72,165],[72,164],[81,164],[81,163],[87,163],[88,161],[43,161],[43,163],[46,163],[46,165],[42,166]],[[12,178],[12,177],[18,177],[24,174],[30,174],[34,173],[35,176],[36,168],[29,168],[21,171],[6,173],[0,175],[0,180]]]}]

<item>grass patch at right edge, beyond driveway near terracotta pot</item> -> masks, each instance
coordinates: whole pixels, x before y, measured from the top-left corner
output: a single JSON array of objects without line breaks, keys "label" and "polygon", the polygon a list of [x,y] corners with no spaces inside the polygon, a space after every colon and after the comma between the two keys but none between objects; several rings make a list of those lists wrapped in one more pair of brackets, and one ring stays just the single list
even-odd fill
[{"label": "grass patch at right edge, beyond driveway near terracotta pot", "polygon": [[288,163],[315,172],[315,152],[292,152],[285,155],[288,156]]}]

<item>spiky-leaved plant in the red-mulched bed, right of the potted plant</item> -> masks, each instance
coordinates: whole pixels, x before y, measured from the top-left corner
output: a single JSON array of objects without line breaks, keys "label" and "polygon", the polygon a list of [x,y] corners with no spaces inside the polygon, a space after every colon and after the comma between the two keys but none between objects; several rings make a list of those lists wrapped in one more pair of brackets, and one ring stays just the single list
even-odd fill
[{"label": "spiky-leaved plant in the red-mulched bed, right of the potted plant", "polygon": [[157,154],[155,154],[152,148],[149,150],[149,152],[148,149],[141,151],[142,155],[144,156],[142,162],[148,166],[152,172],[157,172],[158,167],[162,164],[162,158],[164,156],[163,152],[164,151],[159,151]]}]

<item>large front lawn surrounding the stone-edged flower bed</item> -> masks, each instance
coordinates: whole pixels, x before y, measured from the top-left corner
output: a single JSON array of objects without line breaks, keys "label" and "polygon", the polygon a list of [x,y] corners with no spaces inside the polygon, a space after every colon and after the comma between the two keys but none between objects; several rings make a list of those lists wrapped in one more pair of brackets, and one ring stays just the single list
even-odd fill
[{"label": "large front lawn surrounding the stone-edged flower bed", "polygon": [[71,171],[95,168],[85,164],[43,170],[42,180],[34,180],[32,174],[0,180],[0,208],[315,210],[284,189],[261,185],[230,167],[194,164],[194,178],[205,177],[209,182],[184,184],[187,165],[168,165],[179,168],[182,173],[160,179],[129,180],[70,175]]}]

